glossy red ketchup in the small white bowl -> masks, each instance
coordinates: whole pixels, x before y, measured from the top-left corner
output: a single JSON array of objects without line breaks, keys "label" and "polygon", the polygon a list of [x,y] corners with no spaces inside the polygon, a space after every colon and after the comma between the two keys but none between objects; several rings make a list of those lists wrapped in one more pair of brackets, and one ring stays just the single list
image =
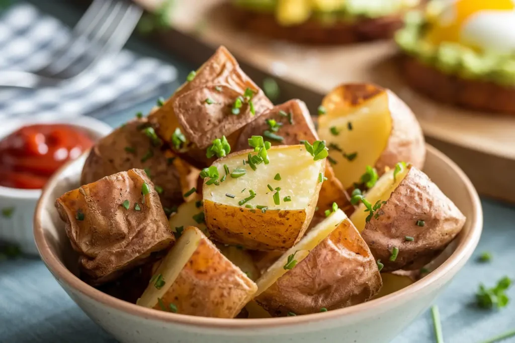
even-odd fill
[{"label": "glossy red ketchup in the small white bowl", "polygon": [[70,125],[22,127],[0,141],[0,186],[41,189],[59,167],[91,146],[88,135]]}]

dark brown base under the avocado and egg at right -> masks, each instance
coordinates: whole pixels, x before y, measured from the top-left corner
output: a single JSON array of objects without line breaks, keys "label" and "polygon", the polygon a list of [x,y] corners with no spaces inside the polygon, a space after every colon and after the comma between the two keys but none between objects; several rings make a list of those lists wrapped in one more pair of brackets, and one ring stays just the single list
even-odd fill
[{"label": "dark brown base under the avocado and egg at right", "polygon": [[401,56],[399,66],[409,86],[436,101],[476,111],[515,114],[515,87],[444,74],[408,55]]}]

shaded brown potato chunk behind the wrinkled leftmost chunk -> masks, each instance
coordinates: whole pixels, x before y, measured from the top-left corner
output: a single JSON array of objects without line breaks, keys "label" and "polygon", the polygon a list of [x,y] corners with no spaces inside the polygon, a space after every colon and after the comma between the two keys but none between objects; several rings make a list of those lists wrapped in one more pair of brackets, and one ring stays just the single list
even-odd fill
[{"label": "shaded brown potato chunk behind the wrinkled leftmost chunk", "polygon": [[84,163],[81,184],[90,184],[132,168],[144,169],[149,172],[153,184],[162,189],[159,197],[163,207],[182,203],[184,189],[190,186],[187,175],[193,168],[165,151],[159,139],[153,143],[145,134],[145,130],[153,132],[153,129],[147,128],[146,118],[134,119],[100,139]]}]

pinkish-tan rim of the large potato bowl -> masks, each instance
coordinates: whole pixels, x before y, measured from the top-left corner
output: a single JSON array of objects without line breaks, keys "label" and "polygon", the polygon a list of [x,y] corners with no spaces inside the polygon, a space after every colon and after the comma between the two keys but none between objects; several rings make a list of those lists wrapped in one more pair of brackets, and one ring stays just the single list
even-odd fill
[{"label": "pinkish-tan rim of the large potato bowl", "polygon": [[[302,316],[291,316],[291,317],[276,317],[276,318],[255,318],[255,319],[234,319],[234,318],[209,318],[209,317],[197,317],[191,315],[176,314],[164,311],[156,311],[153,309],[145,308],[121,299],[114,298],[108,294],[105,294],[96,288],[88,285],[87,283],[80,280],[70,270],[68,270],[64,264],[52,253],[48,243],[44,239],[43,225],[41,223],[41,217],[43,213],[43,198],[45,197],[47,188],[49,185],[54,183],[54,178],[57,177],[69,163],[65,164],[61,169],[50,178],[47,185],[43,188],[43,195],[38,201],[36,212],[34,216],[34,237],[36,240],[36,246],[40,253],[43,262],[47,268],[59,281],[59,283],[66,283],[69,287],[73,288],[76,292],[92,299],[93,301],[99,302],[111,308],[114,308],[121,312],[129,313],[133,316],[140,317],[142,319],[152,319],[167,323],[183,324],[193,327],[204,327],[211,329],[258,329],[258,328],[275,328],[280,326],[292,326],[298,324],[307,324],[320,320],[336,319],[343,316],[355,315],[358,313],[366,312],[374,308],[381,308],[384,306],[388,308],[388,305],[392,305],[402,300],[402,298],[408,296],[415,296],[418,292],[424,288],[434,284],[441,279],[445,274],[451,272],[461,261],[467,260],[472,255],[475,247],[479,242],[479,238],[483,229],[483,210],[479,200],[479,195],[472,185],[467,175],[447,156],[436,148],[426,143],[426,148],[431,151],[432,154],[442,159],[447,163],[451,169],[463,180],[464,185],[469,193],[472,202],[472,215],[467,220],[471,221],[471,229],[467,233],[460,244],[456,247],[456,250],[452,253],[447,260],[445,260],[440,266],[438,266],[433,272],[420,279],[419,281],[403,288],[400,291],[391,293],[384,297],[373,299],[361,304],[349,306],[347,308],[332,310],[325,313],[314,313]],[[457,271],[456,271],[457,272]]]}]

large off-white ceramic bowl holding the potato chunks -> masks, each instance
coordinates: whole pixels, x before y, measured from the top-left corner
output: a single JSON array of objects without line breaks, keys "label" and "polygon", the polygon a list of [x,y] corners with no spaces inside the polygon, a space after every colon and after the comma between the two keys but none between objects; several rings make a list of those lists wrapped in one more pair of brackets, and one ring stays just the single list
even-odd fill
[{"label": "large off-white ceramic bowl holding the potato chunks", "polygon": [[113,298],[76,277],[77,255],[66,237],[54,201],[79,186],[84,159],[85,156],[65,166],[43,190],[34,222],[36,244],[46,266],[68,295],[123,343],[386,343],[443,291],[472,255],[483,227],[479,197],[470,180],[448,157],[427,146],[424,171],[467,216],[467,222],[434,261],[433,272],[423,279],[379,299],[304,316],[219,319],[156,311]]}]

